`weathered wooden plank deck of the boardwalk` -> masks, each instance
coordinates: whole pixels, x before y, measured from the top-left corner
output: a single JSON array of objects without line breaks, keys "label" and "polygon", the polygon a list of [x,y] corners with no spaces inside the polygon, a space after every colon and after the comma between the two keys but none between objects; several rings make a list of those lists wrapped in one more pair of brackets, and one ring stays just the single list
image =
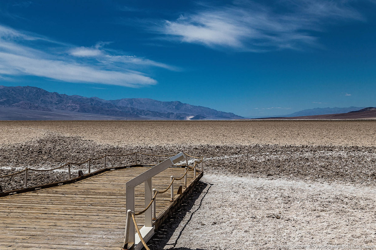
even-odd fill
[{"label": "weathered wooden plank deck of the boardwalk", "polygon": [[[125,183],[149,168],[112,170],[71,184],[0,197],[0,249],[120,250],[126,222]],[[166,169],[153,177],[153,188],[165,189],[171,175],[180,177],[184,172],[184,168]],[[193,181],[189,172],[188,187]],[[175,195],[180,185],[184,190],[184,178],[174,182]],[[156,222],[165,217],[171,203],[170,192],[157,196]],[[135,211],[144,206],[142,184],[135,188]],[[144,225],[143,216],[137,217],[137,224]]]}]

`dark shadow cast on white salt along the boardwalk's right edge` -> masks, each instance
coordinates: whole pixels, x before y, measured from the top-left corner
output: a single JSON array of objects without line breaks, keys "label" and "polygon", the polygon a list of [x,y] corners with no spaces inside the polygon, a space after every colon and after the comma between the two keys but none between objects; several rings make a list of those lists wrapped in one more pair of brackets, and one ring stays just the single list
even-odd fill
[{"label": "dark shadow cast on white salt along the boardwalk's right edge", "polygon": [[[159,250],[159,249],[170,249],[170,250],[205,250],[205,249],[190,249],[187,247],[177,247],[175,248],[177,242],[179,241],[180,236],[182,235],[186,225],[191,221],[194,213],[199,210],[202,205],[202,201],[205,198],[206,194],[209,192],[211,188],[210,183],[205,183],[203,181],[199,181],[196,187],[193,190],[193,194],[189,199],[187,199],[180,207],[178,211],[176,211],[172,216],[168,217],[163,225],[161,225],[158,231],[153,235],[153,237],[147,242],[150,249],[152,250]],[[200,195],[204,192],[204,195],[200,198]],[[200,198],[199,206],[194,210],[191,211],[193,205]],[[171,237],[173,236],[176,229],[181,226],[180,223],[183,221],[185,216],[190,213],[190,218],[184,223],[182,229],[179,232],[178,237],[171,243]],[[169,243],[170,242],[170,243]]]}]

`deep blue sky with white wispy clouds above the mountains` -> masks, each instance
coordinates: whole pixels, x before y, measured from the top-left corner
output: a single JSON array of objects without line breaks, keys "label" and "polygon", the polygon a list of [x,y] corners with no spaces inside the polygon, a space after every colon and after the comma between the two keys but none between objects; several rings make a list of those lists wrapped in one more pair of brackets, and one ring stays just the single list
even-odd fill
[{"label": "deep blue sky with white wispy clouds above the mountains", "polygon": [[1,85],[238,115],[376,106],[376,1],[0,1]]}]

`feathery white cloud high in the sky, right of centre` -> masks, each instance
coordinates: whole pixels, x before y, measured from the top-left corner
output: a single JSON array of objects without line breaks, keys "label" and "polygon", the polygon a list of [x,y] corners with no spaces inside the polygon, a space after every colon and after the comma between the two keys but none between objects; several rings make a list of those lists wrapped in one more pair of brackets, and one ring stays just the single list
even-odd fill
[{"label": "feathery white cloud high in the sky, right of centre", "polygon": [[253,1],[202,5],[199,11],[165,20],[154,30],[166,35],[166,39],[211,48],[255,52],[302,49],[307,45],[317,46],[312,31],[322,31],[324,25],[363,20],[351,3],[352,0],[282,0],[275,1],[277,8]]}]

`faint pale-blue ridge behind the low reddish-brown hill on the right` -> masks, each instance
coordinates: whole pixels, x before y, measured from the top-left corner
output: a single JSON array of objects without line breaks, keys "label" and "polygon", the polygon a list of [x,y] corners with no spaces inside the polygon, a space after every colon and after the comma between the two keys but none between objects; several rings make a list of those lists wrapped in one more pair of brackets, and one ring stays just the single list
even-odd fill
[{"label": "faint pale-blue ridge behind the low reddish-brown hill on the right", "polygon": [[348,108],[313,108],[313,109],[304,109],[301,111],[294,112],[287,115],[267,115],[267,116],[248,116],[249,118],[262,118],[262,117],[296,117],[296,116],[308,116],[308,115],[329,115],[329,114],[342,114],[351,111],[358,111],[365,107],[348,107]]}]

